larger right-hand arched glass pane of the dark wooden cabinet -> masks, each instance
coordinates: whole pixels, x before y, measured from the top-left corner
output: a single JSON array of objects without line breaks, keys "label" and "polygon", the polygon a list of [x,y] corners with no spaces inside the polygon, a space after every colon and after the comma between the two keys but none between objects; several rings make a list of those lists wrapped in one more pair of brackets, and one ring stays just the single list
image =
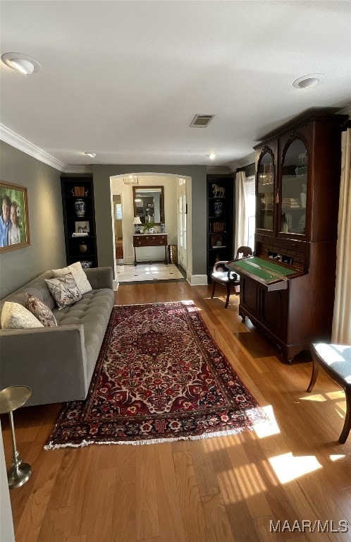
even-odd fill
[{"label": "larger right-hand arched glass pane of the dark wooden cabinet", "polygon": [[281,216],[278,231],[305,234],[307,204],[307,149],[300,139],[285,152],[281,178]]}]

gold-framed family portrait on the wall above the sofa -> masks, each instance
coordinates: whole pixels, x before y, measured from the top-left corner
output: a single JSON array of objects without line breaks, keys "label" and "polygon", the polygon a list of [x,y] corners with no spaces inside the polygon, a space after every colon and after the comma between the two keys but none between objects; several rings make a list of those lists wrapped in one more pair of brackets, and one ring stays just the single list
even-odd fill
[{"label": "gold-framed family portrait on the wall above the sofa", "polygon": [[0,253],[30,245],[27,188],[0,181]]}]

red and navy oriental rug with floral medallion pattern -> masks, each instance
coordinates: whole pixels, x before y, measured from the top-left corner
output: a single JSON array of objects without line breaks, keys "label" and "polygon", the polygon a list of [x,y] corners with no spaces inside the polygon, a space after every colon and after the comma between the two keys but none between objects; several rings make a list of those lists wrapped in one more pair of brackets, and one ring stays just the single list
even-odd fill
[{"label": "red and navy oriental rug with floral medallion pattern", "polygon": [[266,415],[192,301],[114,306],[85,401],[47,445],[142,445],[238,433]]}]

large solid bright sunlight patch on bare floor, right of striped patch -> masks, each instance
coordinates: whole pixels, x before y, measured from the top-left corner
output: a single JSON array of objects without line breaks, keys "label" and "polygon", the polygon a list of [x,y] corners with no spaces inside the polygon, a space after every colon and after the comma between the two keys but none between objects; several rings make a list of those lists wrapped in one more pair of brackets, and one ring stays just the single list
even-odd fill
[{"label": "large solid bright sunlight patch on bare floor, right of striped patch", "polygon": [[293,452],[270,457],[269,463],[281,483],[290,482],[322,467],[314,455],[295,457]]}]

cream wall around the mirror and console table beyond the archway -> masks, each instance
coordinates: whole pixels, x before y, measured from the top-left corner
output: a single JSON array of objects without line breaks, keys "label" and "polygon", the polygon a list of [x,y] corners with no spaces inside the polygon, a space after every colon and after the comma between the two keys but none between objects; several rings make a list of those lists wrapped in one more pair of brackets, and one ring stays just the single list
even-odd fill
[{"label": "cream wall around the mirror and console table beyond the archway", "polygon": [[[168,244],[177,244],[177,186],[178,176],[138,174],[139,186],[164,186],[164,215]],[[125,263],[134,263],[133,248],[133,185],[125,184],[123,176],[111,177],[112,194],[121,194],[123,212],[123,255]],[[137,248],[137,260],[163,260],[164,247]]]}]

